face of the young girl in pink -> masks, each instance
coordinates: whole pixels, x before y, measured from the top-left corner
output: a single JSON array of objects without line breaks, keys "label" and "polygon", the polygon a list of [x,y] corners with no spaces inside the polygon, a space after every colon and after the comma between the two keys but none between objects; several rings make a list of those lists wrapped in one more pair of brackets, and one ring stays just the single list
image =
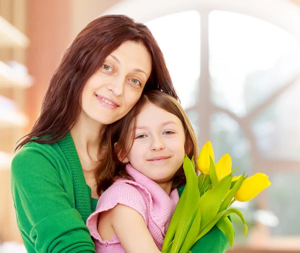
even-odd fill
[{"label": "face of the young girl in pink", "polygon": [[125,160],[153,181],[169,182],[183,162],[184,143],[180,119],[148,103],[137,116],[133,145]]}]

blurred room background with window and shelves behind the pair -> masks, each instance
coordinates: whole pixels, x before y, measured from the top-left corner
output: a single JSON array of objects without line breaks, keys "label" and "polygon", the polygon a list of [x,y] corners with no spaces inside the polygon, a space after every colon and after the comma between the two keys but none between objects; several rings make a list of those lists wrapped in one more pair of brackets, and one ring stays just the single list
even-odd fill
[{"label": "blurred room background with window and shelves behind the pair", "polygon": [[15,143],[64,50],[107,13],[148,25],[199,146],[211,140],[216,160],[228,152],[236,174],[269,175],[255,200],[235,202],[249,231],[232,215],[233,251],[300,252],[300,0],[0,0],[0,252],[25,252],[9,186]]}]

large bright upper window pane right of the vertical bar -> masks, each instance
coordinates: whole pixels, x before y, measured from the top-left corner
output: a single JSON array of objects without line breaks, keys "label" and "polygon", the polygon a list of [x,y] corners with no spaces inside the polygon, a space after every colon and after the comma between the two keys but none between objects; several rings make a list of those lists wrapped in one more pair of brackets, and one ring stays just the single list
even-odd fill
[{"label": "large bright upper window pane right of the vertical bar", "polygon": [[214,104],[245,115],[284,85],[300,65],[298,41],[244,14],[209,14],[209,71]]}]

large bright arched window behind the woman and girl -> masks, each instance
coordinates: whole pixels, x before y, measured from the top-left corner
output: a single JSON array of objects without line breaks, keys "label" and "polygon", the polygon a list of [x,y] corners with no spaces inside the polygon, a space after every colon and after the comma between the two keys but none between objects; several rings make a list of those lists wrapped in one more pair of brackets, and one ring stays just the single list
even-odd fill
[{"label": "large bright arched window behind the woman and girl", "polygon": [[288,239],[300,248],[300,8],[283,0],[156,2],[121,1],[106,13],[148,25],[200,145],[210,139],[216,158],[228,152],[240,172],[270,176],[271,187],[247,205],[259,221],[249,244],[284,248]]}]

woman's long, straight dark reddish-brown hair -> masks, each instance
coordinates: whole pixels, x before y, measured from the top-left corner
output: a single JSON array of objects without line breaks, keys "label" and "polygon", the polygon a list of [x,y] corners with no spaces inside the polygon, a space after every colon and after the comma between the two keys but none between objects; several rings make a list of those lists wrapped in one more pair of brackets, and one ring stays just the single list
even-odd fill
[{"label": "woman's long, straight dark reddish-brown hair", "polygon": [[152,57],[152,71],[144,92],[161,90],[178,99],[162,52],[150,30],[126,15],[101,16],[88,23],[65,51],[50,80],[38,119],[15,150],[29,141],[53,143],[66,135],[79,117],[84,84],[106,56],[128,40],[142,43]]}]

